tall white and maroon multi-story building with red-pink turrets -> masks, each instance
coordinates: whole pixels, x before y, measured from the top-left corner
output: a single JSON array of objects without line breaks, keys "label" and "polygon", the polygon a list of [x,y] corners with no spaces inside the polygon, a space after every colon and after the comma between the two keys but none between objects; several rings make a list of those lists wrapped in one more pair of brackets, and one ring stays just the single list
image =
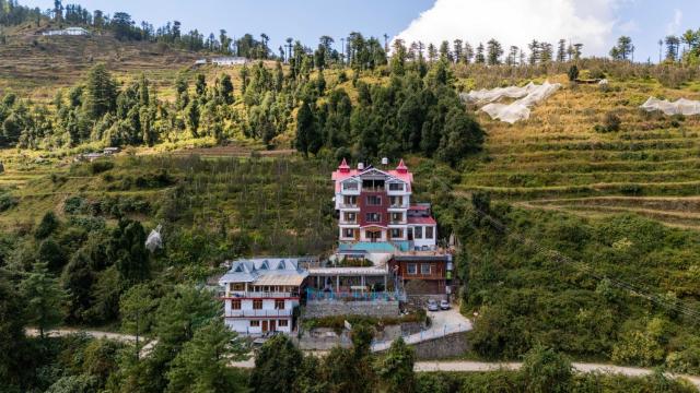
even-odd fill
[{"label": "tall white and maroon multi-story building with red-pink turrets", "polygon": [[430,205],[411,205],[413,175],[402,159],[390,170],[350,169],[343,159],[332,180],[341,247],[389,242],[404,251],[435,248],[438,224]]}]

